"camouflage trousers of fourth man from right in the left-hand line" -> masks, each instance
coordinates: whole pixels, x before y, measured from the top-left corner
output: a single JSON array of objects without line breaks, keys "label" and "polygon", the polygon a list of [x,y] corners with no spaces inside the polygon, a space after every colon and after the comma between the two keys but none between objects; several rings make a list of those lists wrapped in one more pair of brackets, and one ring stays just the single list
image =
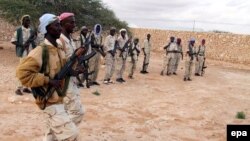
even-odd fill
[{"label": "camouflage trousers of fourth man from right in the left-hand line", "polygon": [[107,53],[105,56],[105,65],[106,72],[104,80],[111,79],[115,71],[115,58],[110,53]]}]

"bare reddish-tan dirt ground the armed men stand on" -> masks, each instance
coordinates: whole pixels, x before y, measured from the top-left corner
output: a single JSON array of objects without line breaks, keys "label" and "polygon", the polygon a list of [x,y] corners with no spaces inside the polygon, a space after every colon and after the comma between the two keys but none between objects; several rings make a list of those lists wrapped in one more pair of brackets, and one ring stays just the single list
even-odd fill
[{"label": "bare reddish-tan dirt ground the armed men stand on", "polygon": [[[42,111],[32,95],[14,94],[19,60],[12,45],[0,46],[0,141],[41,141]],[[135,79],[124,84],[81,89],[82,141],[225,141],[227,124],[250,123],[250,66],[208,60],[204,77],[184,82],[183,61],[168,77],[159,75],[161,59],[153,53],[143,75],[141,56]],[[99,82],[103,75],[102,66]],[[246,119],[235,118],[240,111]]]}]

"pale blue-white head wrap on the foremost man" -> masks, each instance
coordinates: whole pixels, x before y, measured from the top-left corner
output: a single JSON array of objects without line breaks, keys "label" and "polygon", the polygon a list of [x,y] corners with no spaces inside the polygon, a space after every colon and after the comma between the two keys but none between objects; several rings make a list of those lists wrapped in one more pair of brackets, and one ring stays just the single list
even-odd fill
[{"label": "pale blue-white head wrap on the foremost man", "polygon": [[49,13],[43,14],[39,18],[39,21],[40,21],[39,31],[40,31],[40,33],[45,35],[47,33],[46,27],[48,25],[50,25],[51,23],[53,23],[54,21],[56,21],[57,19],[58,19],[58,17],[56,15],[49,14]]}]

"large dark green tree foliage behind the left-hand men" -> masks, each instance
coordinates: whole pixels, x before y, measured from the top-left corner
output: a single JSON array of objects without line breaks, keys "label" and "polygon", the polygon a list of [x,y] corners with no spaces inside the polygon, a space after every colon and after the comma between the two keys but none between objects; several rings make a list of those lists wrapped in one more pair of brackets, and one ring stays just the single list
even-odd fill
[{"label": "large dark green tree foliage behind the left-hand men", "polygon": [[20,25],[19,20],[24,14],[29,14],[33,26],[37,27],[38,19],[44,13],[73,12],[78,28],[83,25],[92,28],[97,23],[104,29],[110,26],[128,28],[128,24],[120,21],[100,0],[0,0],[0,10],[1,16],[14,25]]}]

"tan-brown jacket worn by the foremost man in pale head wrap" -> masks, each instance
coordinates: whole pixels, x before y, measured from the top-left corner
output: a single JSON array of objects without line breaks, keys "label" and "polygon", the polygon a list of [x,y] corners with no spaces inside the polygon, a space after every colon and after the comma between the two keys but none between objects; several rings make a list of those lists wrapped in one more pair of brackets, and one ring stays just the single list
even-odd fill
[{"label": "tan-brown jacket worn by the foremost man in pale head wrap", "polygon": [[[44,40],[44,44],[49,53],[45,72],[40,72],[43,62],[43,46],[37,46],[33,49],[17,67],[16,76],[24,86],[44,87],[44,89],[47,89],[49,79],[53,79],[66,63],[66,56],[62,46],[55,47],[47,39]],[[57,92],[54,92],[48,99],[47,106],[62,103],[62,99]],[[44,103],[36,99],[36,104],[41,108]]]}]

